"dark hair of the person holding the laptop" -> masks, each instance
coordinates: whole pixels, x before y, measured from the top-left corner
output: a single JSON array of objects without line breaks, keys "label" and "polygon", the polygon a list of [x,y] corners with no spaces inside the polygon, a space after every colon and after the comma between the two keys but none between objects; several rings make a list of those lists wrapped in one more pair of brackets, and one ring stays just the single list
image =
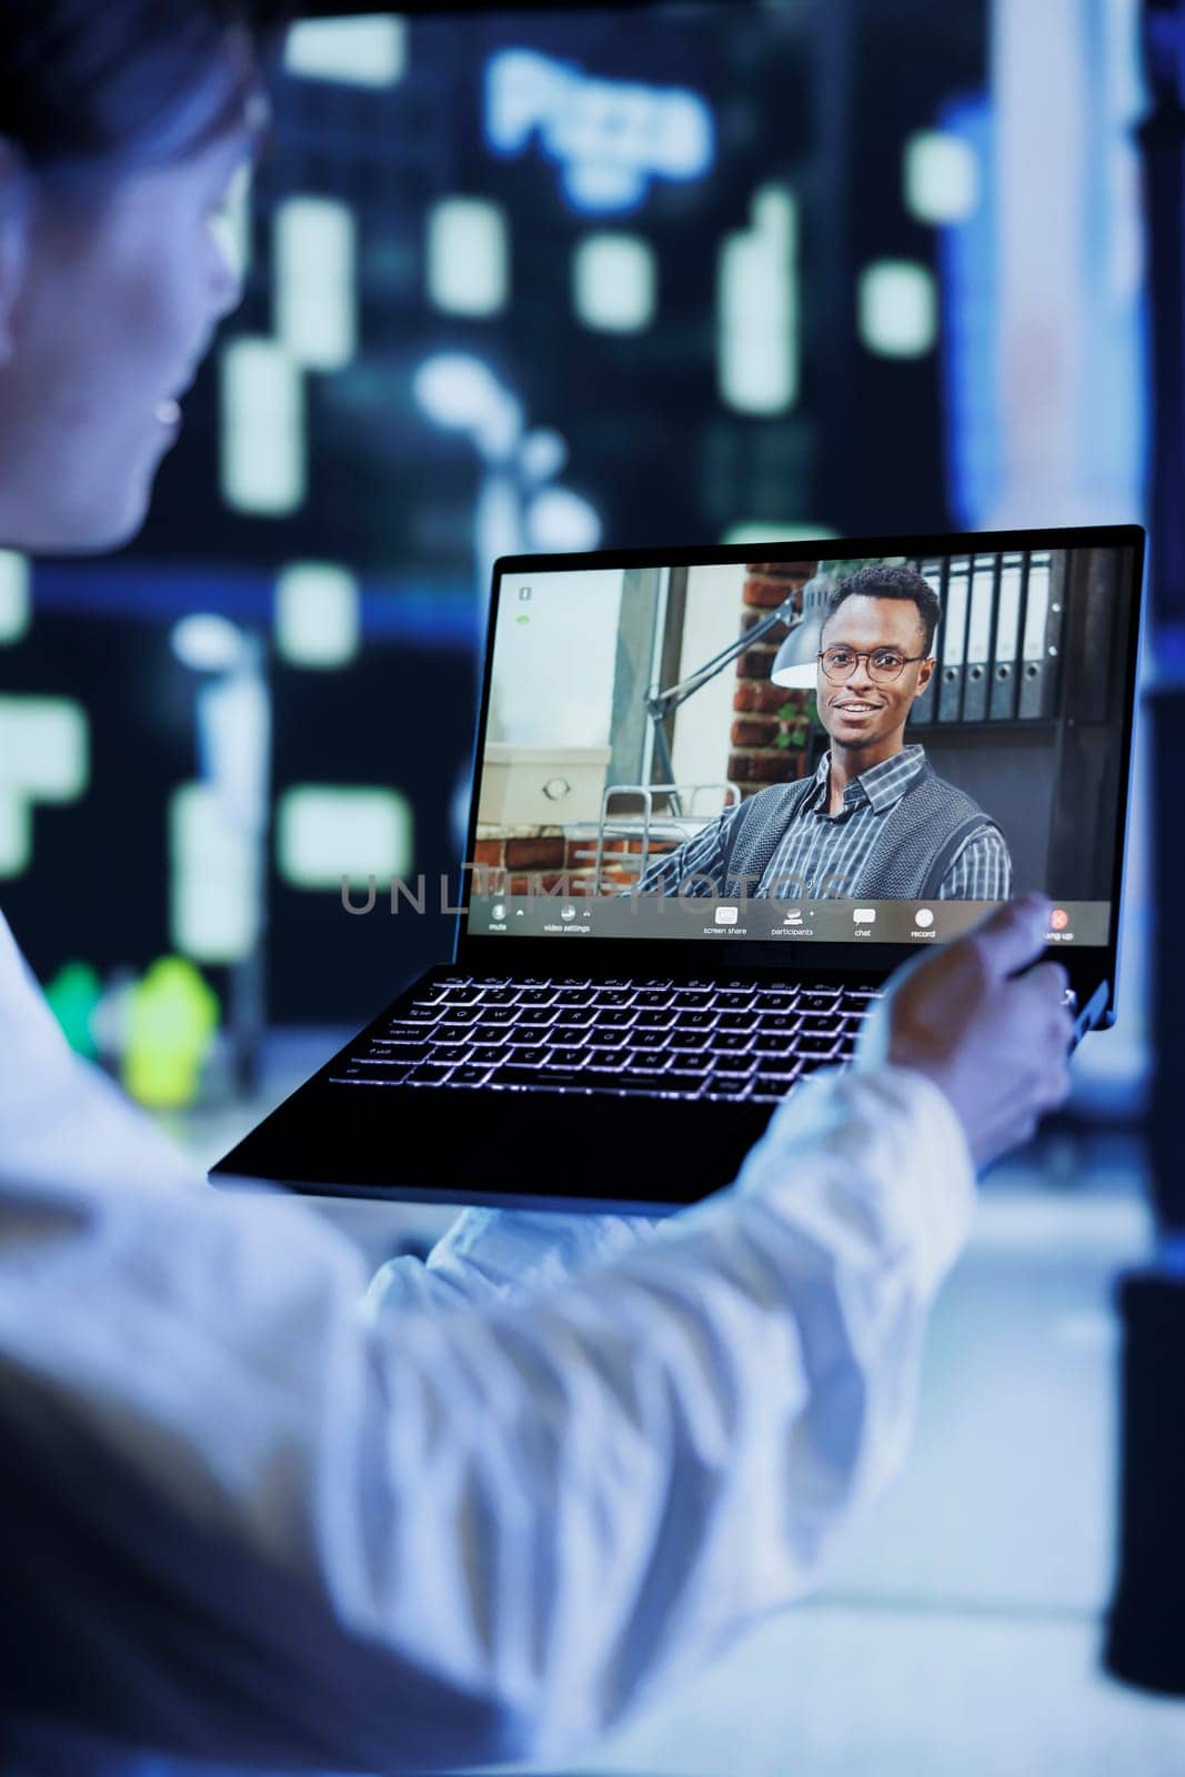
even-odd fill
[{"label": "dark hair of the person holding the laptop", "polygon": [[251,0],[0,0],[0,137],[34,171],[181,160],[245,126],[281,23]]}]

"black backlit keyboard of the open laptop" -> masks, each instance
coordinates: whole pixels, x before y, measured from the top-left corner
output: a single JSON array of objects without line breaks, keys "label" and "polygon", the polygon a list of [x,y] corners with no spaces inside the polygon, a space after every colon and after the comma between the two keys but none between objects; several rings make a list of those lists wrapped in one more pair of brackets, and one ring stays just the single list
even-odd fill
[{"label": "black backlit keyboard of the open laptop", "polygon": [[329,1080],[776,1104],[812,1068],[851,1061],[879,997],[876,986],[446,976]]}]

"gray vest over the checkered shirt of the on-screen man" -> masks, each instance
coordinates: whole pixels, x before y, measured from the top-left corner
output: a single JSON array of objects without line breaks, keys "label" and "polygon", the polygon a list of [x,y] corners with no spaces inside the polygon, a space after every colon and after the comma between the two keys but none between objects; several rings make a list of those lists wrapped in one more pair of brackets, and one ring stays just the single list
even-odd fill
[{"label": "gray vest over the checkered shirt of the on-screen man", "polygon": [[[725,842],[723,894],[741,901],[757,892],[785,830],[810,796],[814,778],[780,784],[741,803]],[[995,828],[979,803],[922,764],[899,803],[883,817],[851,899],[934,901],[959,846]],[[998,828],[997,828],[998,830]]]}]

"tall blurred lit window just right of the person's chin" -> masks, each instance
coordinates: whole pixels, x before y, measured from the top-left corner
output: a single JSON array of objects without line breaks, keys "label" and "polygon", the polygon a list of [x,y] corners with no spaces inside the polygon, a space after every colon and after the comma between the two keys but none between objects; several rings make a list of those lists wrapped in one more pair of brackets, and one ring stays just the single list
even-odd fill
[{"label": "tall blurred lit window just right of the person's chin", "polygon": [[254,514],[304,503],[304,382],[274,339],[236,339],[222,354],[222,494]]}]

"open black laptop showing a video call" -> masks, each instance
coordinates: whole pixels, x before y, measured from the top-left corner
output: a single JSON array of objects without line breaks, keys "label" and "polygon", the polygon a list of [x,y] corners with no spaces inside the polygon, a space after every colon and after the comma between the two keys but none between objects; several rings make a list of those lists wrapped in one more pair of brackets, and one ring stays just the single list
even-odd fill
[{"label": "open black laptop showing a video call", "polygon": [[[499,560],[453,958],[211,1180],[675,1210],[1030,888],[1105,1029],[1142,562],[1137,526]],[[343,876],[377,960],[414,894]]]}]

